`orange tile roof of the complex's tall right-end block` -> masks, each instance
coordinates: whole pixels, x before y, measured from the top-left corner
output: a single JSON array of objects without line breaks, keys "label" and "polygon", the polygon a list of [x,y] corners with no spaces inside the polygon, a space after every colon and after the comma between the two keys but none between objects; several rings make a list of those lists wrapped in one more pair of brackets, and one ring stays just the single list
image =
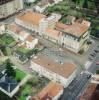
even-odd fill
[{"label": "orange tile roof of the complex's tall right-end block", "polygon": [[68,34],[80,37],[83,35],[90,27],[90,22],[82,21],[82,23],[75,22],[71,25],[65,25],[63,23],[57,23],[56,29],[62,30]]}]

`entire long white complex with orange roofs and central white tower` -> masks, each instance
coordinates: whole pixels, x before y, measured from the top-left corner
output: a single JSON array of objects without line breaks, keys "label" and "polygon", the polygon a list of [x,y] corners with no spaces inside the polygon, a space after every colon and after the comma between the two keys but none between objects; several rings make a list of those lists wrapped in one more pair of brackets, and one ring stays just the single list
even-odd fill
[{"label": "entire long white complex with orange roofs and central white tower", "polygon": [[[86,20],[75,21],[73,18],[71,24],[63,24],[59,22],[60,18],[61,15],[54,13],[50,16],[45,16],[35,12],[26,12],[16,17],[15,22],[37,32],[40,36],[54,43],[56,41],[56,44],[70,51],[75,53],[81,50],[86,51],[88,49],[87,42],[90,36],[90,22]],[[35,21],[37,21],[36,24]]]}]

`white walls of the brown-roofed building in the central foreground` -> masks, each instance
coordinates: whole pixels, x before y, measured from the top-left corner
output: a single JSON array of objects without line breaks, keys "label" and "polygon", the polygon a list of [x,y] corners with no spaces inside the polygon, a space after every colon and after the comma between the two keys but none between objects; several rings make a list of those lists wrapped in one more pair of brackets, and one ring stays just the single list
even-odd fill
[{"label": "white walls of the brown-roofed building in the central foreground", "polygon": [[49,80],[54,80],[60,83],[64,87],[67,87],[74,80],[78,71],[77,69],[75,69],[73,73],[68,78],[66,78],[60,75],[59,73],[55,73],[54,71],[51,71],[45,68],[44,66],[41,66],[33,61],[31,61],[31,68],[37,73],[39,73],[39,75],[42,75],[48,78]]}]

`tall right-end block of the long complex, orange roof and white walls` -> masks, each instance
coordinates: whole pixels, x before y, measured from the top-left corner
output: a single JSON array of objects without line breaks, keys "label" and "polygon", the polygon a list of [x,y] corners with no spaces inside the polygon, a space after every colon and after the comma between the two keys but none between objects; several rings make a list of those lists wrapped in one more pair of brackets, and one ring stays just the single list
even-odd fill
[{"label": "tall right-end block of the long complex, orange roof and white walls", "polygon": [[81,23],[74,22],[70,25],[57,23],[56,29],[63,33],[60,38],[60,44],[63,47],[75,53],[78,53],[81,49],[84,51],[88,49],[87,42],[90,37],[90,22],[83,20]]}]

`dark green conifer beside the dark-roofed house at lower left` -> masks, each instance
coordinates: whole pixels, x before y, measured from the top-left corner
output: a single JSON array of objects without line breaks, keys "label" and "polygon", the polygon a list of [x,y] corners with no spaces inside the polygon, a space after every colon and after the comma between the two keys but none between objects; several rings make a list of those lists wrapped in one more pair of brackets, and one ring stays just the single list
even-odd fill
[{"label": "dark green conifer beside the dark-roofed house at lower left", "polygon": [[6,61],[6,72],[8,77],[15,77],[16,76],[16,72],[14,70],[14,68],[12,67],[12,64],[10,63],[10,60],[8,59]]}]

